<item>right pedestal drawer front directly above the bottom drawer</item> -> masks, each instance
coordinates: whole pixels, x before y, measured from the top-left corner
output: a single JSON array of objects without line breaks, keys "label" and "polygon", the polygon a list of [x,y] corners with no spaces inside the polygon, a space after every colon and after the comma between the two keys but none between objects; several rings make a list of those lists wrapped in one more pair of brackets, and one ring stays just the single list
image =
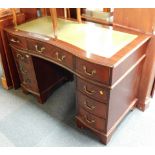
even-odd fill
[{"label": "right pedestal drawer front directly above the bottom drawer", "polygon": [[107,107],[105,104],[90,99],[86,95],[78,92],[78,105],[83,107],[89,113],[98,117],[106,118]]}]

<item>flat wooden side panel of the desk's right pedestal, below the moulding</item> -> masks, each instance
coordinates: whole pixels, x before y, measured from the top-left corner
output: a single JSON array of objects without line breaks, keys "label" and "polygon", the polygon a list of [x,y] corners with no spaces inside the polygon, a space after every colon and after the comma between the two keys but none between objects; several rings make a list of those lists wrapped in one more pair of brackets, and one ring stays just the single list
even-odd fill
[{"label": "flat wooden side panel of the desk's right pedestal, below the moulding", "polygon": [[[108,107],[107,131],[113,130],[137,101],[142,61],[114,89],[111,90]],[[135,104],[135,103],[134,103]]]}]

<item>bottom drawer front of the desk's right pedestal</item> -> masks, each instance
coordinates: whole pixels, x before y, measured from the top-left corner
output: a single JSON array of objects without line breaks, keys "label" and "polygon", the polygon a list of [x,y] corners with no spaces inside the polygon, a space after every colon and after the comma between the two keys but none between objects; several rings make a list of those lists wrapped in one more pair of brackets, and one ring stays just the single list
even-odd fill
[{"label": "bottom drawer front of the desk's right pedestal", "polygon": [[105,120],[103,118],[96,117],[83,108],[79,107],[78,116],[90,127],[95,128],[99,131],[105,131]]}]

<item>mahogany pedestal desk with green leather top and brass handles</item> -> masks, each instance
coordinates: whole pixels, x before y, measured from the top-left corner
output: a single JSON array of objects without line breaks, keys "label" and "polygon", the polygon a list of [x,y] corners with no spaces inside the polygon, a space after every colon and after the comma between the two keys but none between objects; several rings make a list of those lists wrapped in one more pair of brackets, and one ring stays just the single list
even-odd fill
[{"label": "mahogany pedestal desk with green leather top and brass handles", "polygon": [[138,101],[150,36],[64,19],[58,25],[58,39],[53,38],[50,17],[5,29],[21,87],[43,103],[74,75],[77,125],[107,144]]}]

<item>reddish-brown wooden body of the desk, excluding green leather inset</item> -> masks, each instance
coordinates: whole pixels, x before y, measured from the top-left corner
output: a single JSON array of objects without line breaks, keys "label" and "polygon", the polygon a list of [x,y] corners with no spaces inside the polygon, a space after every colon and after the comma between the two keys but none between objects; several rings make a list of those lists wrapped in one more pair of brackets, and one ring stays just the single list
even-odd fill
[{"label": "reddish-brown wooden body of the desk, excluding green leather inset", "polygon": [[[137,104],[146,47],[151,37],[123,28],[114,29],[137,34],[138,37],[111,58],[94,54],[88,58],[86,51],[66,42],[47,36],[29,35],[13,27],[5,29],[11,47],[16,49],[12,53],[18,51],[31,59],[31,66],[26,65],[30,70],[30,79],[36,82],[30,87],[24,86],[20,80],[24,91],[44,102],[53,84],[58,81],[61,83],[62,79],[66,79],[64,77],[74,74],[77,125],[92,130],[105,144],[121,120]],[[12,38],[15,41],[10,41]],[[21,70],[18,69],[18,72],[21,74]],[[94,106],[94,111],[91,111]]]}]

